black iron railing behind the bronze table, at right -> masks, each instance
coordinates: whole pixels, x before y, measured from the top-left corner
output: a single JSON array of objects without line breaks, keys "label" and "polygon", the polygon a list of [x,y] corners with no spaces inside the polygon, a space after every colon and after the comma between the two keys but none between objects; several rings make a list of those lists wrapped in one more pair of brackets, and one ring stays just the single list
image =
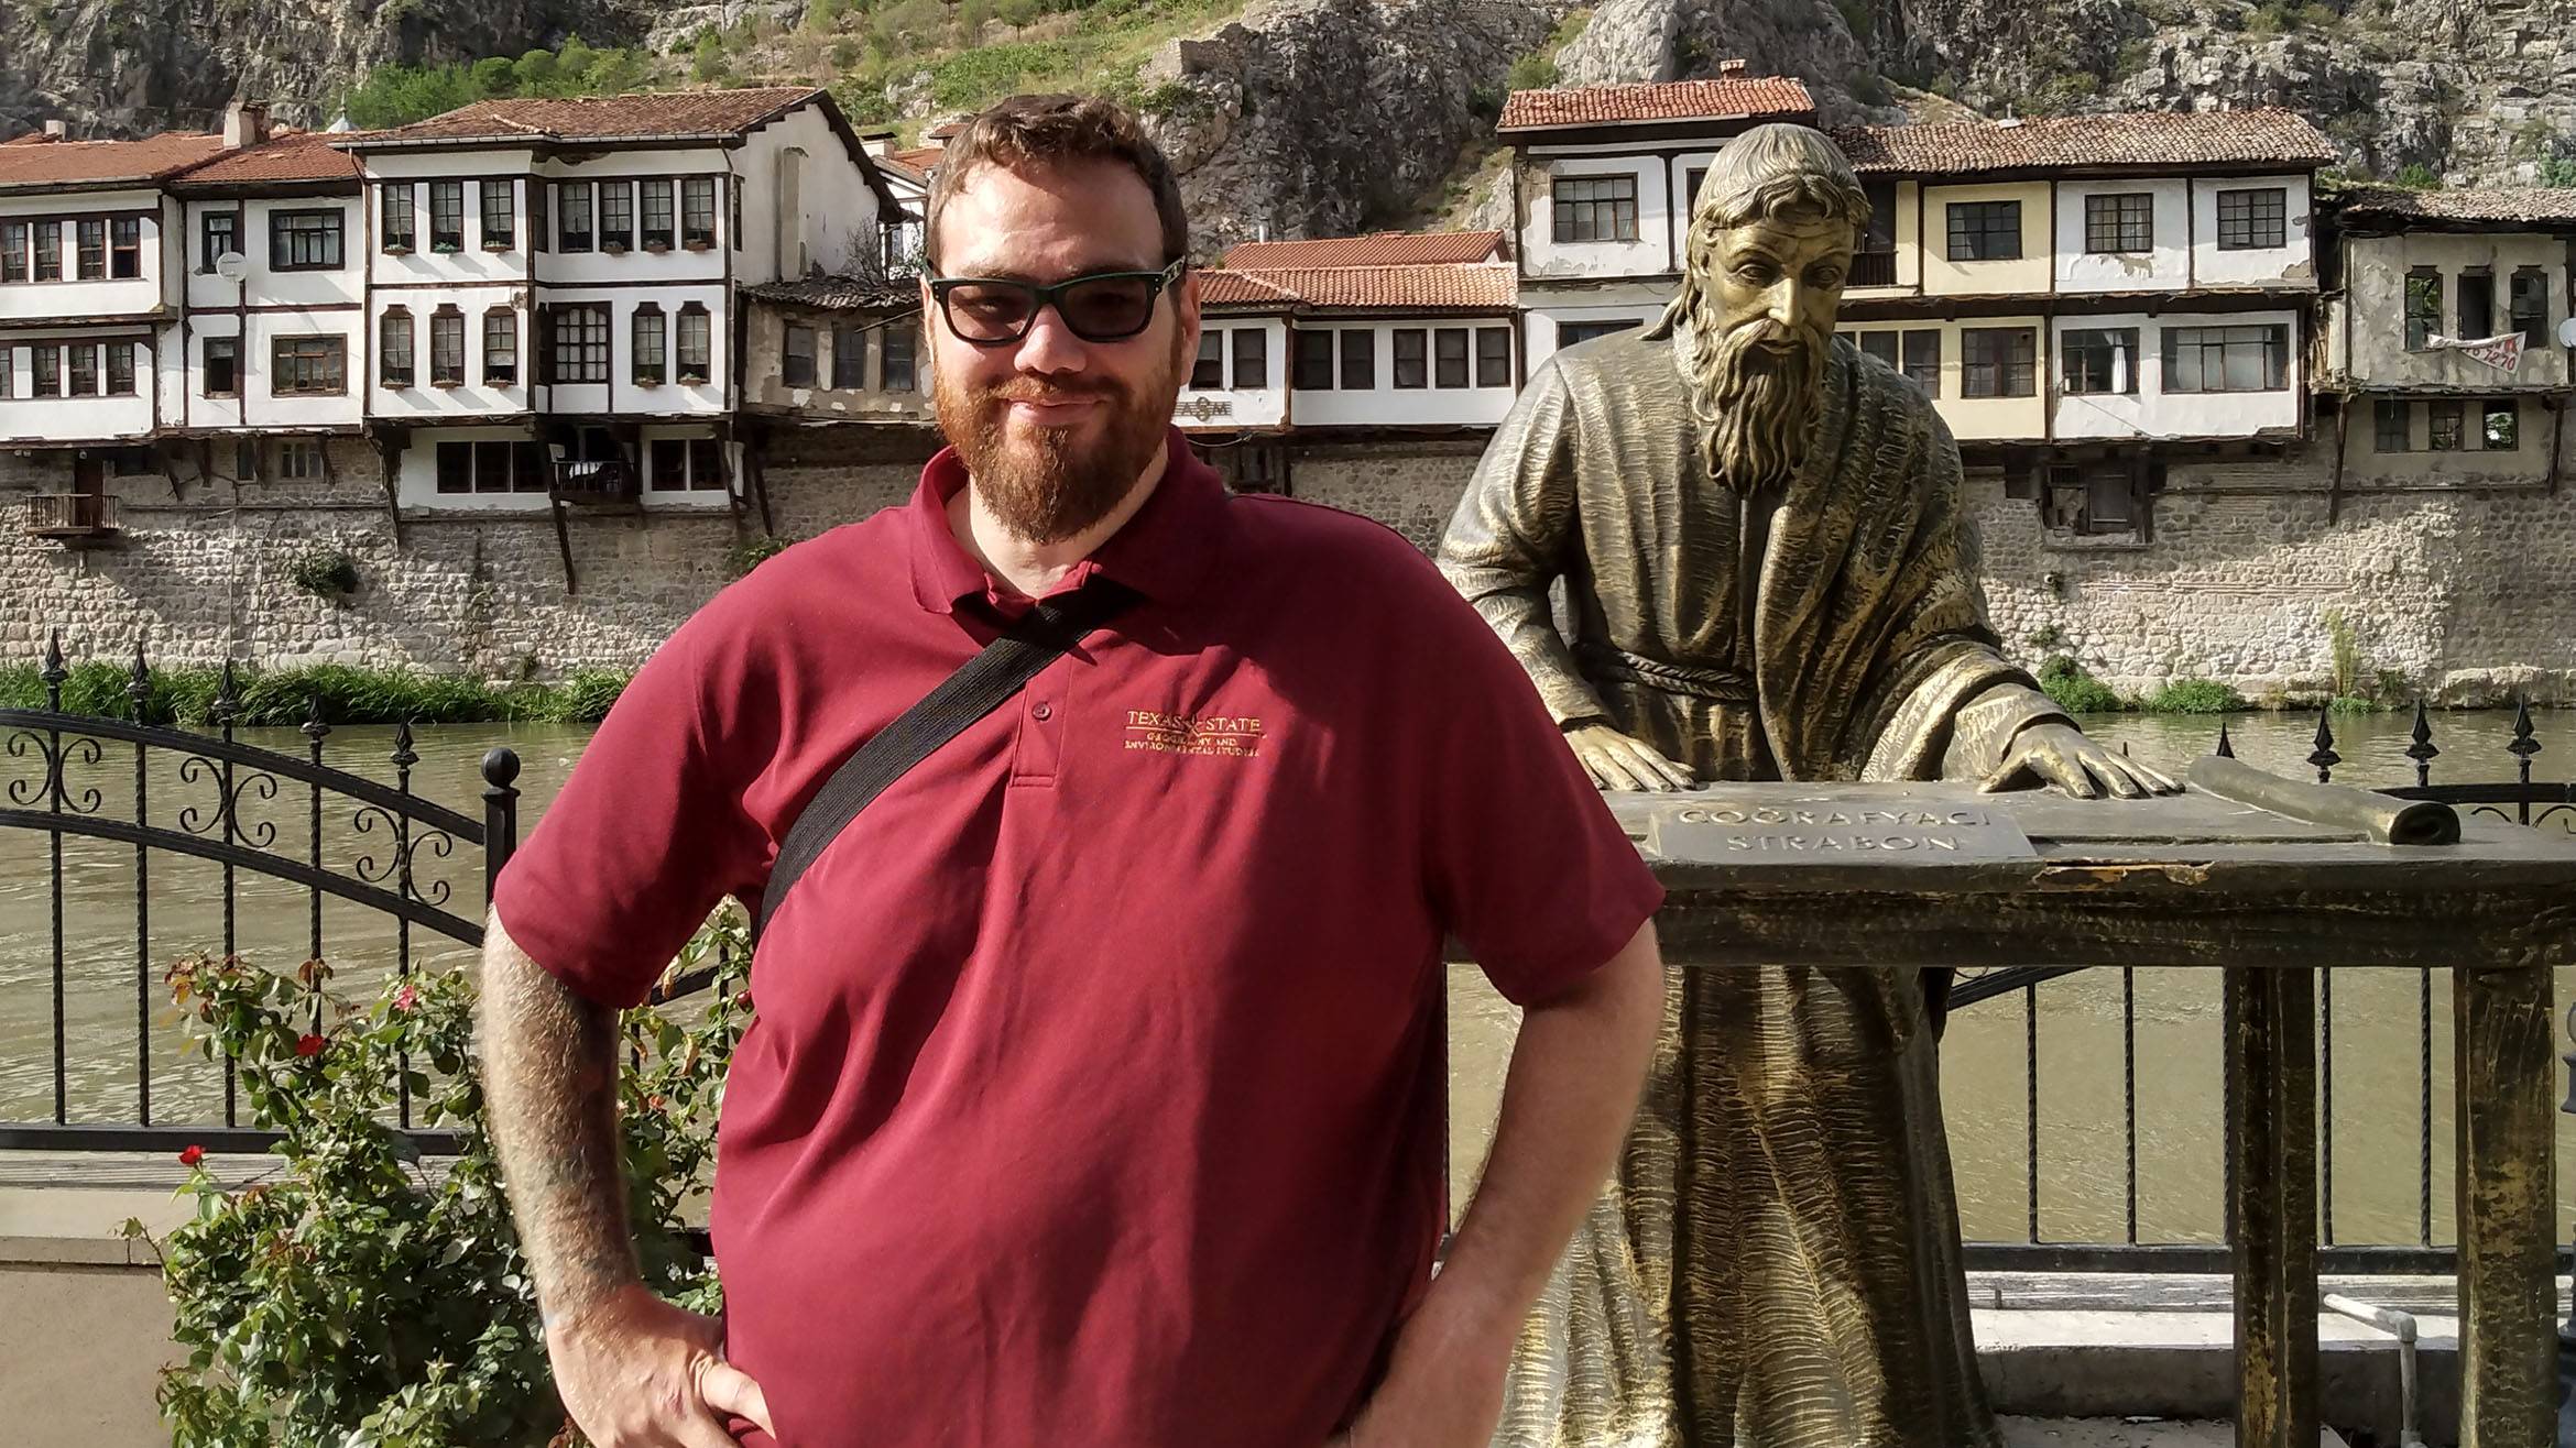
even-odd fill
[{"label": "black iron railing behind the bronze table, at right", "polygon": [[[2221,721],[2215,752],[2233,757],[2233,739],[2228,727]],[[2393,794],[2401,799],[2439,799],[2458,806],[2463,814],[2478,814],[2491,819],[2506,819],[2532,827],[2563,827],[2566,817],[2576,812],[2576,783],[2535,783],[2532,781],[2532,755],[2543,752],[2537,729],[2532,727],[2530,703],[2522,701],[2514,709],[2512,737],[2504,752],[2514,760],[2512,781],[2491,783],[2432,783],[2434,760],[2442,750],[2434,745],[2432,714],[2424,703],[2416,703],[2411,742],[2403,755],[2414,763],[2414,783],[2378,786],[2380,794]],[[2313,750],[2308,752],[2308,765],[2316,770],[2318,783],[2334,783],[2334,770],[2344,757],[2334,750],[2334,724],[2329,714],[2318,714]],[[2349,781],[2347,781],[2349,783]],[[2050,1239],[2043,1221],[2043,1167],[2045,1154],[2040,1144],[2040,1031],[2043,1031],[2043,997],[2040,987],[2063,976],[2087,974],[2087,966],[2012,966],[1994,971],[1965,974],[1955,982],[1950,992],[1950,1013],[1986,1007],[1994,1010],[1999,1002],[2014,1000],[2022,1013],[2022,1198],[2025,1198],[2025,1237],[2020,1242],[1971,1242],[1968,1262],[1973,1268],[2030,1268],[2030,1270],[2192,1270],[2192,1273],[2223,1273],[2226,1247],[2200,1244],[2200,1242],[2143,1242],[2138,1232],[2138,971],[2120,969],[2120,1134],[2123,1134],[2123,1219],[2125,1232],[2117,1242],[2069,1242]],[[2419,966],[2411,992],[2414,1005],[2414,1041],[2411,1069],[2414,1069],[2414,1113],[2403,1121],[2403,1129],[2414,1136],[2414,1224],[2411,1242],[2344,1242],[2336,1237],[2334,1206],[2336,1206],[2336,1113],[2334,1113],[2334,976],[2336,971],[2318,971],[2316,1002],[2318,1002],[2318,1262],[2329,1270],[2344,1273],[2447,1273],[2452,1270],[2452,1250],[2434,1242],[2434,976],[2447,976],[2445,966]],[[2215,976],[2208,976],[2215,989]],[[2378,1059],[2388,1059],[2385,1051],[2375,1051]],[[2208,1141],[2213,1159],[2223,1159],[2223,1141]],[[2221,1193],[2223,1196],[2223,1193]],[[2561,1270],[2568,1268],[2568,1252],[2561,1250]]]}]

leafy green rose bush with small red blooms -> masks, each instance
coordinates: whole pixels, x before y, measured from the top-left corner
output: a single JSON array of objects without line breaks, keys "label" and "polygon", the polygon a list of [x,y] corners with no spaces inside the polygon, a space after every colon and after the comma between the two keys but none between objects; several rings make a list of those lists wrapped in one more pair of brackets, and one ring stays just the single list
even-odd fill
[{"label": "leafy green rose bush with small red blooms", "polygon": [[[750,946],[726,910],[675,971],[719,966],[706,997],[629,1010],[618,1085],[629,1216],[644,1281],[716,1311],[714,1262],[685,1208],[714,1167],[724,1067],[750,997]],[[142,1224],[188,1350],[165,1368],[175,1448],[546,1448],[577,1445],[546,1373],[536,1293],[518,1252],[474,1072],[474,976],[420,971],[368,1002],[237,956],[170,966],[193,1046],[240,1064],[242,1100],[283,1139],[278,1165],[229,1188],[198,1147],[183,1193],[196,1216]],[[422,1159],[392,1126],[402,1095],[459,1154]]]}]

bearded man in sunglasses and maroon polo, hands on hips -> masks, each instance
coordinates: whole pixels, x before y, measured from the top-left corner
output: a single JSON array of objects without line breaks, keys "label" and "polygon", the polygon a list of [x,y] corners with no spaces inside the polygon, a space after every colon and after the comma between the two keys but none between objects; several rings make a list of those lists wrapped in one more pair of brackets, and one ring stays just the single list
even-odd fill
[{"label": "bearded man in sunglasses and maroon polo, hands on hips", "polygon": [[[1172,430],[1198,281],[1136,116],[976,116],[925,224],[951,448],[690,618],[500,876],[484,1069],[564,1407],[600,1448],[1484,1448],[1636,1108],[1662,891],[1419,551]],[[979,649],[1103,598],[788,848]],[[636,1273],[616,1007],[724,894],[778,902],[711,1322]],[[1445,935],[1528,1025],[1432,1281]]]}]

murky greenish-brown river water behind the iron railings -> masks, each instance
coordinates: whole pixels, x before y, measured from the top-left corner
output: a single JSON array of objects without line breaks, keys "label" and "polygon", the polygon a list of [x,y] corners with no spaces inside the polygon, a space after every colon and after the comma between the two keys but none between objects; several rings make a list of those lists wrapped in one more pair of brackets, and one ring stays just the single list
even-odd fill
[{"label": "murky greenish-brown river water behind the iron railings", "polygon": [[[2342,783],[2411,783],[2403,755],[2409,716],[2334,719]],[[2179,765],[2208,752],[2215,719],[2105,716],[2092,732],[2128,745],[2148,763]],[[2316,716],[2239,714],[2228,729],[2239,757],[2303,773],[2313,750]],[[2512,778],[2509,714],[2434,716],[2442,757],[2434,781]],[[479,760],[495,745],[518,750],[520,830],[544,814],[587,739],[585,727],[453,724],[415,732],[420,760],[412,788],[469,817],[482,817]],[[247,745],[304,750],[291,729],[245,729]],[[2561,716],[2540,716],[2548,745],[2535,778],[2561,778],[2576,763],[2576,729]],[[325,763],[394,781],[392,729],[337,729],[325,739]],[[2568,755],[2568,760],[2558,760]],[[0,781],[26,778],[23,757],[0,760]],[[100,791],[100,814],[131,817],[131,750],[108,745],[95,768],[75,763],[75,783]],[[242,830],[276,830],[273,848],[304,855],[309,801],[304,786],[278,781],[273,799],[250,783],[240,788]],[[180,778],[160,760],[147,781],[155,824],[183,827],[183,809],[206,824],[216,781]],[[386,830],[358,830],[345,801],[325,801],[322,855],[343,868],[384,866]],[[160,971],[183,951],[224,948],[222,868],[206,861],[155,853],[149,861],[149,946],[137,953],[134,848],[103,840],[62,840],[64,910],[64,1087],[72,1121],[131,1121],[139,1105],[139,1054],[149,1051],[152,1118],[211,1121],[222,1116],[222,1074],[180,1054],[178,1015],[160,989]],[[446,886],[459,915],[482,912],[482,853],[459,845],[435,855],[415,853],[422,889]],[[0,1121],[54,1116],[52,1031],[52,861],[41,832],[0,830]],[[291,969],[309,951],[312,904],[301,886],[242,873],[234,881],[232,946],[276,969]],[[461,946],[412,930],[412,961],[464,956]],[[394,925],[363,907],[325,902],[325,956],[340,984],[363,992],[397,958]],[[144,964],[149,961],[149,964]],[[137,984],[149,1015],[137,1031]],[[2143,1242],[2208,1242],[2218,1232],[2221,1201],[2221,1087],[2218,1087],[2218,974],[2136,971],[2136,1113],[2123,1090],[2120,976],[2087,971],[2038,989],[2038,1237],[2061,1242],[2117,1242],[2128,1232],[2125,1149],[2136,1123],[2138,1237]],[[2432,976],[2429,1103],[2419,1080],[2416,971],[2347,971],[2334,976],[2334,1237],[2339,1242],[2414,1242],[2419,1232],[2419,1129],[2432,1123],[2432,1237],[2450,1239],[2450,982]],[[2561,1002],[2571,971],[2561,971]],[[1484,989],[1471,966],[1450,974],[1453,1072],[1453,1185],[1463,1196],[1492,1131],[1494,1100],[1512,1041],[1512,1010]],[[1942,1046],[1942,1103],[1958,1172],[1960,1216],[1971,1239],[2022,1239],[2030,1234],[2030,1023],[2020,995],[1984,1002],[1953,1018]],[[2561,1134],[2561,1154],[2576,1131]],[[2566,1177],[2566,1175],[2563,1175]],[[2561,1180],[2561,1193],[2571,1185]],[[2561,1211],[2561,1219],[2566,1214]]]}]

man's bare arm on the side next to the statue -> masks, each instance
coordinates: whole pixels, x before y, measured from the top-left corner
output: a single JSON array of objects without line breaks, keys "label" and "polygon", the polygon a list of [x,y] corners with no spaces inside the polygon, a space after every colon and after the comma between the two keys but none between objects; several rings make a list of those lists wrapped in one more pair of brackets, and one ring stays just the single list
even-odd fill
[{"label": "man's bare arm on the side next to the statue", "polygon": [[1512,1340],[1600,1198],[1662,1020],[1654,922],[1522,1018],[1484,1183],[1396,1337],[1386,1384],[1352,1425],[1355,1448],[1481,1448],[1492,1438]]}]

